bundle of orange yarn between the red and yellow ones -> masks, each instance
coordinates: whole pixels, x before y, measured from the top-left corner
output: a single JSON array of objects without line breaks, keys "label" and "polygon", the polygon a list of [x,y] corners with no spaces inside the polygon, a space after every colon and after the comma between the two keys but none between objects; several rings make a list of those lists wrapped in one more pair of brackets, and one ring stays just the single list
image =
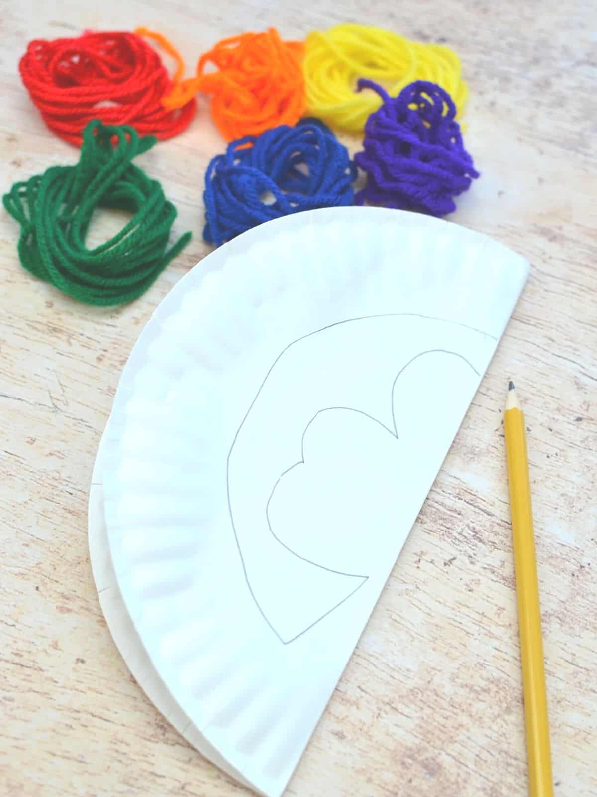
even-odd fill
[{"label": "bundle of orange yarn between the red and yellow ones", "polygon": [[[213,95],[213,119],[228,141],[295,124],[306,102],[302,49],[301,41],[282,41],[275,28],[222,39],[197,62],[197,77],[175,84],[162,103],[171,110],[197,91]],[[207,72],[209,65],[217,71]]]}]

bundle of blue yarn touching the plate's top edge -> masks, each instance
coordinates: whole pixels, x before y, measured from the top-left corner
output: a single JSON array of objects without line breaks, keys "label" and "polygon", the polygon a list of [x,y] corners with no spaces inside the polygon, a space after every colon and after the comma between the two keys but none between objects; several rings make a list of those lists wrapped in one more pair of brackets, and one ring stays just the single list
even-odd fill
[{"label": "bundle of blue yarn touching the plate's top edge", "polygon": [[348,150],[319,120],[246,135],[205,173],[203,237],[220,246],[272,218],[352,205],[356,178]]}]

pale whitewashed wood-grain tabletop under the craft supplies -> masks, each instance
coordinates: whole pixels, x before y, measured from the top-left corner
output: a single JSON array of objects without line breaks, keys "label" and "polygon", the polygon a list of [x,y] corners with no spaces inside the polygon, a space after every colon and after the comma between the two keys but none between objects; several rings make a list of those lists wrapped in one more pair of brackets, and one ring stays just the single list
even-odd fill
[{"label": "pale whitewashed wood-grain tabletop under the craft supplies", "polygon": [[[501,410],[525,401],[556,795],[597,795],[597,6],[590,0],[4,0],[2,185],[74,163],[18,77],[33,37],[162,30],[188,69],[220,37],[368,22],[445,41],[470,84],[482,179],[452,218],[532,264],[455,445],[288,787],[301,797],[522,797],[527,788]],[[193,241],[133,304],[88,308],[33,280],[0,214],[0,793],[247,794],[195,752],[127,671],[100,611],[88,485],[139,332],[209,251],[203,175],[224,144],[201,104],[142,158]],[[354,148],[355,143],[351,143]],[[104,211],[92,240],[121,219]]]}]

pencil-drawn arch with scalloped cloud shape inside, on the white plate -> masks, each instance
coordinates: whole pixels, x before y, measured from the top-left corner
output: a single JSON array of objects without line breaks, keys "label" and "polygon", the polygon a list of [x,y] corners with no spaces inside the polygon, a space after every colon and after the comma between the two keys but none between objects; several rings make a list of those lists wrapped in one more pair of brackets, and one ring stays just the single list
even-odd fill
[{"label": "pencil-drawn arch with scalloped cloud shape inside, on the white plate", "polygon": [[232,441],[227,491],[248,590],[284,645],[392,566],[494,343],[388,314],[310,332],[275,359]]}]

